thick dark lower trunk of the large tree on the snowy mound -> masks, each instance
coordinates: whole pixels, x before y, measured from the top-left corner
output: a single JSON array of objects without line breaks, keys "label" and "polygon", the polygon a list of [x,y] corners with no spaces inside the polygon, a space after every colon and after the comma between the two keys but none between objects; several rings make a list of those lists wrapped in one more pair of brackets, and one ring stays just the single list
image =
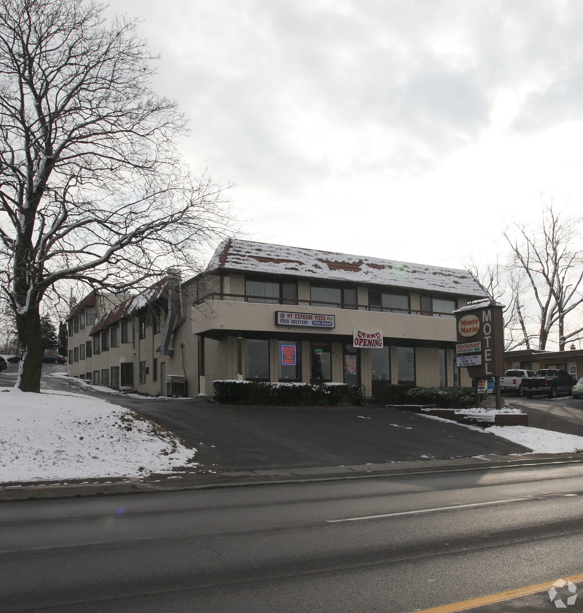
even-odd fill
[{"label": "thick dark lower trunk of the large tree on the snowy mound", "polygon": [[22,357],[18,365],[18,388],[23,392],[40,392],[42,372],[42,334],[40,332],[39,307],[29,307],[26,313],[16,316],[18,340]]}]

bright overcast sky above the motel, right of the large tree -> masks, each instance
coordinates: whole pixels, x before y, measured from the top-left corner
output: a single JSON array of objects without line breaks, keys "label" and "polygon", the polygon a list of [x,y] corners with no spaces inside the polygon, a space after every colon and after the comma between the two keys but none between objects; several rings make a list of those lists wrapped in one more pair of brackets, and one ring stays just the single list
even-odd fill
[{"label": "bright overcast sky above the motel, right of the large tree", "polygon": [[583,2],[116,0],[252,240],[461,267],[583,199]]}]

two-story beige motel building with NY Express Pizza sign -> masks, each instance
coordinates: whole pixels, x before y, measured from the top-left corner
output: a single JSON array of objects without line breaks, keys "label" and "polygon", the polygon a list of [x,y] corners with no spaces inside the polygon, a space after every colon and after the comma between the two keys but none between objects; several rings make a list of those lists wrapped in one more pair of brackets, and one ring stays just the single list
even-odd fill
[{"label": "two-story beige motel building with NY Express Pizza sign", "polygon": [[[110,387],[165,395],[170,378],[194,396],[213,394],[216,379],[345,382],[372,397],[387,384],[471,385],[455,366],[452,311],[486,294],[465,270],[231,239],[180,291],[165,287],[85,332],[102,342],[115,330],[116,350],[109,341],[94,369],[115,373]],[[382,332],[383,348],[354,348],[355,329]],[[79,368],[70,362],[70,375]]]}]

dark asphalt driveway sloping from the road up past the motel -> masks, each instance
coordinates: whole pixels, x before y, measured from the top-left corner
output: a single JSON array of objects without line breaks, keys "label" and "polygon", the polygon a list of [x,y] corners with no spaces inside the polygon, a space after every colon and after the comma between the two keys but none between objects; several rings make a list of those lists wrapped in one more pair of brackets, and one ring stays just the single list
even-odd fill
[{"label": "dark asphalt driveway sloping from the road up past the motel", "polygon": [[[16,381],[16,365],[0,387]],[[223,406],[187,398],[96,392],[66,368],[43,366],[45,389],[82,392],[126,406],[185,438],[207,470],[257,470],[524,453],[525,447],[458,424],[381,407]],[[12,383],[10,383],[12,382]]]}]

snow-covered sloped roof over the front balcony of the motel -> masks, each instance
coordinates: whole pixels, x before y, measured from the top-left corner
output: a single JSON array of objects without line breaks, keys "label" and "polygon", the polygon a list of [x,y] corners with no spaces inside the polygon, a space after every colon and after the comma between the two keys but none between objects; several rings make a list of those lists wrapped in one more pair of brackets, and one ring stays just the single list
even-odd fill
[{"label": "snow-covered sloped roof over the front balcony of the motel", "polygon": [[467,270],[270,245],[238,238],[223,241],[211,257],[207,272],[221,270],[375,283],[479,298],[486,296]]}]

